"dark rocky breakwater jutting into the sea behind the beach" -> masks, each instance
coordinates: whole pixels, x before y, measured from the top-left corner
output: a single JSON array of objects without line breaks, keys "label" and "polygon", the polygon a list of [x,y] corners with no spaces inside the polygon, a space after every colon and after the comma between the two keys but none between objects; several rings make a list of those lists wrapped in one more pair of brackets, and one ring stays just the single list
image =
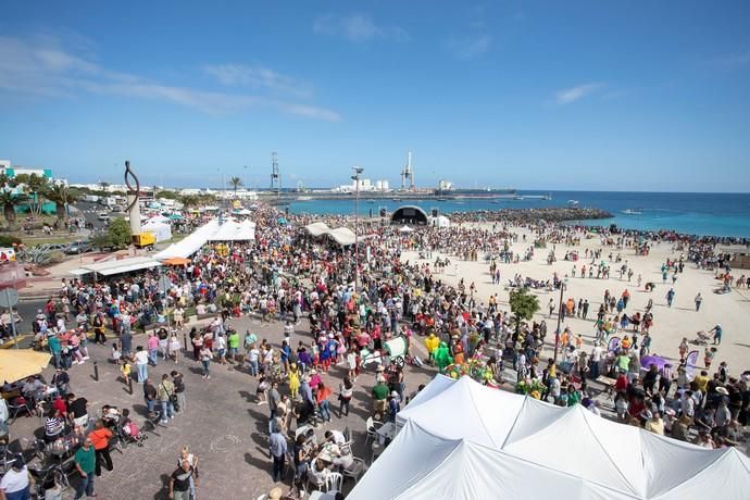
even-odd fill
[{"label": "dark rocky breakwater jutting into the sea behind the beach", "polygon": [[448,216],[457,222],[507,221],[513,223],[534,223],[538,221],[546,221],[557,223],[565,221],[610,218],[614,215],[600,209],[559,207],[548,209],[477,210],[474,212],[454,212],[452,214],[448,214]]}]

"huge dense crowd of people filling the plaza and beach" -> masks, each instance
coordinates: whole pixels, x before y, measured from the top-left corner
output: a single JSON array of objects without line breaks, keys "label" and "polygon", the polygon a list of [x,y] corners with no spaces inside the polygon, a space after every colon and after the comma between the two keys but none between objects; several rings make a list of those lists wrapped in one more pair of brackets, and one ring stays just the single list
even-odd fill
[{"label": "huge dense crowd of people filling the plaza and beach", "polygon": [[[357,474],[361,465],[352,453],[351,433],[333,425],[334,417],[349,414],[358,380],[370,376],[364,371],[371,362],[375,364],[368,409],[373,428],[374,422],[393,423],[420,389],[412,385],[410,392],[410,371],[378,354],[393,339],[404,340],[407,363],[422,363],[414,355],[415,339],[421,337],[425,361],[441,372],[480,359],[491,374],[485,383],[512,390],[534,387],[540,399],[560,405],[580,403],[595,413],[603,410],[597,402],[597,388],[604,387],[611,389],[613,416],[624,423],[677,439],[691,438],[692,430],[700,446],[733,446],[741,440],[750,374],[733,375],[726,363],[712,374],[710,361],[704,371],[692,373],[693,364],[682,349],[676,366],[643,366],[640,360],[650,354],[654,311],[652,303],[636,311],[627,289],[616,295],[608,290],[601,300],[550,300],[550,317],[559,314],[591,323],[595,340],[587,346],[580,333],[570,327],[550,335],[550,317],[518,321],[509,308],[501,307],[496,293],[482,300],[474,283],[458,279],[455,286],[450,285],[443,275],[450,267],[441,265],[440,258],[435,264],[403,259],[407,250],[449,255],[454,261],[487,255],[492,283],[500,284],[500,264],[521,258],[511,249],[526,241],[526,232],[530,230],[536,245],[567,246],[579,241],[582,228],[530,222],[512,226],[501,221],[491,229],[422,227],[411,234],[377,227],[368,229],[360,248],[362,255],[353,259],[352,248],[307,234],[303,216],[289,215],[282,223],[276,211],[261,208],[254,220],[254,241],[207,245],[186,265],[140,271],[101,283],[63,279],[59,292],[34,318],[37,346],[49,349],[57,371],[49,385],[39,382],[39,387],[28,380],[20,397],[36,411],[37,401],[49,399],[45,387],[55,388],[58,396],[51,400],[45,423],[46,440],[54,443],[70,429],[78,436],[75,463],[83,478],[78,497],[93,491],[93,477],[102,467],[112,468],[105,452],[111,439],[124,428],[140,434],[132,429],[126,410],[114,424],[107,422],[111,409],[102,409],[101,421],[91,422],[86,399],[71,393],[67,371],[89,361],[89,342],[104,346],[114,341],[111,361],[118,365],[121,380],[126,386],[142,385],[148,420],[161,425],[168,425],[176,409],[185,411],[185,380],[176,370],[154,380],[149,377],[150,366],[200,363],[205,384],[211,384],[213,364],[247,372],[255,383],[257,403],[268,410],[273,478],[283,479],[291,461],[297,490],[308,483],[322,487],[337,474]],[[553,273],[534,279],[516,274],[508,279],[509,285],[552,291],[562,288],[564,293],[567,279],[595,275],[609,279],[614,265],[621,279],[627,278],[624,283],[640,288],[640,276],[637,285],[630,284],[635,276],[621,253],[642,254],[649,245],[670,239],[668,235],[645,239],[642,234],[605,232],[599,237],[602,248],[611,250],[607,263],[602,250],[566,251],[565,260],[574,262],[570,276]],[[709,242],[695,245],[699,247],[688,252],[691,260],[710,259]],[[534,258],[534,247],[529,248],[530,255],[527,252],[523,259]],[[665,272],[674,279],[683,271],[683,260],[665,263]],[[162,276],[171,284],[166,290],[160,288]],[[248,315],[277,323],[284,333],[282,341],[275,343],[251,329],[238,332],[232,326],[233,320]],[[203,324],[188,329],[189,317],[201,318]],[[307,333],[292,336],[300,328]],[[148,333],[136,336],[138,332]],[[555,347],[559,360],[545,355]],[[332,378],[335,366],[345,367],[340,379]],[[321,427],[326,428],[324,438],[315,432]],[[377,446],[388,440],[387,436],[377,438]],[[177,465],[170,493],[188,499],[198,483],[197,458],[183,450]]]}]

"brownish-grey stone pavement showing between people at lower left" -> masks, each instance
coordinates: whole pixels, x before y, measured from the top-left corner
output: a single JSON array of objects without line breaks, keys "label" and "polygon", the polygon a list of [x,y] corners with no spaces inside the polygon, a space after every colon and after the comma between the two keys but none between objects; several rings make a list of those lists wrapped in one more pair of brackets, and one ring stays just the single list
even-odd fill
[{"label": "brownish-grey stone pavement showing between people at lower left", "polygon": [[[250,317],[232,320],[229,323],[241,334],[245,329],[252,328],[260,339],[266,338],[274,346],[280,345],[283,323],[261,323]],[[108,338],[111,343],[112,336]],[[292,347],[296,347],[299,340],[304,340],[305,343],[312,340],[307,322],[299,325],[292,335]],[[136,336],[135,346],[141,343],[146,343],[146,337]],[[413,341],[413,349],[416,349],[415,353],[424,355],[421,339]],[[146,415],[142,386],[134,383],[134,395],[129,395],[127,386],[118,379],[117,367],[108,362],[109,346],[104,348],[90,345],[89,351],[91,360],[84,365],[74,365],[70,371],[72,390],[89,400],[91,413],[95,410],[99,411],[102,404],[109,403],[121,409],[130,408],[136,422],[142,422]],[[148,433],[149,438],[142,448],[132,445],[122,454],[113,450],[114,471],[104,471],[102,477],[96,480],[99,498],[166,499],[168,477],[176,468],[177,457],[183,446],[189,446],[200,459],[200,483],[197,492],[199,499],[255,499],[267,493],[273,486],[272,464],[267,451],[268,407],[255,404],[257,383],[249,374],[235,371],[233,365],[216,363],[211,365],[211,379],[203,380],[200,364],[190,357],[182,358],[177,365],[160,359],[158,366],[149,366],[149,377],[152,380],[160,379],[163,373],[175,368],[185,374],[187,411],[178,414],[166,427],[157,427],[154,433]],[[93,361],[99,364],[99,382],[93,380]],[[370,370],[358,378],[349,415],[340,420],[336,416],[338,402],[334,395],[330,398],[333,421],[317,430],[322,435],[326,428],[343,430],[348,426],[352,430],[354,454],[366,462],[370,462],[370,449],[364,449],[364,423],[370,415],[370,391],[374,385],[374,364],[370,365]],[[333,367],[329,374],[323,376],[323,380],[335,391],[345,373],[343,367]],[[52,371],[48,368],[45,375],[48,379],[51,378]],[[426,384],[434,375],[435,370],[432,367],[408,366],[407,393],[416,390],[420,384]],[[284,391],[286,387],[280,389]],[[20,417],[11,426],[12,438],[30,437],[40,426],[39,418]],[[291,443],[289,445],[291,450]],[[72,482],[75,484],[77,477],[74,476]],[[288,485],[287,480],[285,490]],[[352,486],[353,480],[347,479],[345,492]],[[73,492],[68,491],[65,498],[73,498]]]}]

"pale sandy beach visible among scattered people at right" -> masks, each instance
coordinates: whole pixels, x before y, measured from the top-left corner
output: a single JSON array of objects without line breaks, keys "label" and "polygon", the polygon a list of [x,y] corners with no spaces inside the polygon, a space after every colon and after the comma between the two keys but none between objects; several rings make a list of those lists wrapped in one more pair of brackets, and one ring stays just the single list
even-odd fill
[{"label": "pale sandy beach visible among scattered people at right", "polygon": [[[482,227],[491,229],[492,226],[491,224],[486,224]],[[530,232],[525,228],[513,227],[511,230],[517,233],[520,236],[526,235],[526,241],[518,238],[517,242],[511,245],[511,249],[514,253],[521,253],[523,255],[525,250],[528,249],[529,246],[533,246],[534,237]],[[580,255],[584,255],[587,248],[589,250],[603,249],[601,260],[607,261],[612,267],[609,279],[597,279],[596,274],[593,278],[588,278],[588,276],[586,278],[580,277],[580,266],[586,264],[588,267],[591,262],[590,258],[588,260],[585,258],[579,259],[577,262],[563,260],[566,251],[576,250]],[[740,247],[722,248],[729,251],[740,250]],[[477,303],[484,302],[487,304],[490,295],[497,293],[502,310],[510,309],[508,303],[510,292],[508,280],[513,278],[515,274],[541,280],[551,279],[555,272],[558,276],[567,276],[567,288],[564,293],[564,300],[572,297],[577,304],[578,299],[588,299],[590,307],[588,320],[566,317],[563,321],[562,327],[568,326],[574,335],[580,334],[589,348],[593,342],[596,313],[600,303],[603,301],[604,291],[609,289],[610,293],[620,298],[623,291],[627,289],[632,296],[630,303],[626,309],[628,314],[635,314],[636,311],[640,311],[642,314],[648,300],[653,299],[652,313],[654,316],[654,324],[651,328],[651,354],[658,354],[678,361],[677,347],[683,337],[687,337],[688,341],[690,341],[696,338],[696,333],[698,330],[709,330],[720,323],[723,327],[724,335],[722,345],[718,347],[718,352],[714,358],[714,363],[712,365],[713,370],[715,370],[721,361],[726,361],[730,371],[735,374],[739,374],[748,367],[747,363],[748,359],[750,359],[750,339],[748,339],[745,334],[745,327],[747,318],[750,317],[750,291],[746,289],[734,289],[730,293],[716,295],[713,290],[721,285],[721,282],[715,278],[715,273],[699,270],[696,264],[689,262],[686,262],[684,272],[678,274],[678,279],[674,285],[672,285],[671,276],[667,279],[667,284],[662,284],[662,264],[667,258],[678,259],[682,253],[680,251],[673,251],[672,243],[654,243],[649,255],[643,257],[636,255],[634,249],[626,248],[617,250],[613,247],[604,247],[599,237],[595,236],[590,239],[582,239],[580,243],[576,246],[558,243],[555,252],[558,260],[550,265],[547,263],[547,257],[551,249],[552,245],[548,245],[546,249],[535,249],[534,257],[530,261],[524,261],[522,259],[518,263],[511,264],[498,261],[501,272],[501,285],[492,285],[489,274],[489,262],[484,260],[483,254],[478,257],[477,261],[470,262],[460,260],[455,258],[455,255],[446,255],[438,252],[434,252],[430,260],[420,259],[417,252],[407,251],[403,253],[402,259],[404,261],[409,260],[410,262],[426,263],[435,262],[435,259],[438,257],[447,257],[450,259],[451,265],[437,275],[440,279],[457,285],[463,277],[466,289],[468,289],[468,286],[473,282],[477,290],[475,295]],[[623,262],[627,261],[628,266],[634,270],[634,275],[629,283],[626,275],[624,275],[622,279],[618,277],[620,273],[617,268],[621,264],[614,261],[610,263],[610,252],[612,252],[615,258],[617,253],[620,253]],[[597,262],[599,262],[599,260]],[[458,275],[455,264],[458,264]],[[576,277],[572,277],[574,265],[576,265],[578,271]],[[747,274],[743,273],[743,271],[745,270],[737,270],[733,272],[733,274],[739,277],[741,274]],[[643,286],[641,286],[640,289],[637,287],[638,274],[642,276],[643,284],[652,282],[657,285],[653,292],[647,292]],[[674,288],[675,290],[675,299],[672,308],[667,308],[665,297],[670,288]],[[549,292],[545,290],[533,290],[533,292],[539,297],[539,305],[541,308],[534,320],[546,320],[549,332],[553,333],[557,326],[557,310],[555,314],[550,317],[547,305],[550,298],[552,298],[557,307],[560,298],[559,291],[554,290]],[[698,292],[703,297],[700,312],[696,312],[695,305],[695,297]],[[613,315],[608,315],[608,317],[611,316]],[[623,336],[622,333],[617,335],[621,338]],[[548,337],[548,340],[552,341],[553,336]],[[690,350],[695,349],[700,351],[699,364],[702,366],[704,347],[690,343]],[[548,343],[546,346],[545,357],[551,357],[552,350],[553,346]]]}]

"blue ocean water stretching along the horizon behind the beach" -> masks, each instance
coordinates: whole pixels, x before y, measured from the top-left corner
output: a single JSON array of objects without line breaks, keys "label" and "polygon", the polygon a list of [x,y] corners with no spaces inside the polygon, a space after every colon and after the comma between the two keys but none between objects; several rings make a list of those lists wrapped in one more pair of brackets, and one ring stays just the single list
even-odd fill
[{"label": "blue ocean water stretching along the horizon behind the beach", "polygon": [[[391,199],[368,202],[366,193],[360,195],[360,214],[377,215],[380,208],[389,212],[404,204],[415,204],[427,211],[439,210],[450,217],[452,212],[474,210],[528,209],[541,207],[567,207],[568,200],[577,200],[579,207],[605,210],[612,218],[586,221],[590,225],[616,224],[628,229],[671,229],[690,235],[735,236],[750,238],[750,193],[697,193],[697,192],[607,192],[607,191],[518,191],[518,195],[550,195],[551,200],[539,199],[463,199],[463,200],[407,200]],[[633,210],[639,214],[626,214]],[[353,200],[292,201],[291,213],[353,214]]]}]

